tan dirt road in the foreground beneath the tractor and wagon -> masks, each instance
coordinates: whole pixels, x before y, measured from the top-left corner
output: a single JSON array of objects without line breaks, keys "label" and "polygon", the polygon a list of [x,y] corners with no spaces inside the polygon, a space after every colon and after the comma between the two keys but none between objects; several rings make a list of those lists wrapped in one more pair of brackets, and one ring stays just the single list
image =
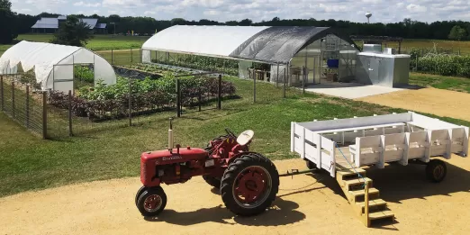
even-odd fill
[{"label": "tan dirt road in the foreground beneath the tractor and wagon", "polygon": [[[424,179],[422,166],[367,171],[396,216],[385,227],[366,229],[336,181],[316,174],[283,177],[273,208],[252,218],[233,217],[200,177],[164,185],[166,211],[149,220],[134,205],[139,178],[16,194],[0,198],[0,234],[465,234],[470,159],[449,161],[447,179],[438,185]],[[276,166],[285,172],[304,163],[294,159]]]}]

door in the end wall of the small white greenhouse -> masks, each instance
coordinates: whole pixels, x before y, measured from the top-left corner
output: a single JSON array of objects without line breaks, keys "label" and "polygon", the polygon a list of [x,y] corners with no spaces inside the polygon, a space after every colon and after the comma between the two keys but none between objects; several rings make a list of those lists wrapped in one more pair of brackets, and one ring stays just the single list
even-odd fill
[{"label": "door in the end wall of the small white greenhouse", "polygon": [[74,65],[55,65],[52,69],[53,90],[74,93]]}]

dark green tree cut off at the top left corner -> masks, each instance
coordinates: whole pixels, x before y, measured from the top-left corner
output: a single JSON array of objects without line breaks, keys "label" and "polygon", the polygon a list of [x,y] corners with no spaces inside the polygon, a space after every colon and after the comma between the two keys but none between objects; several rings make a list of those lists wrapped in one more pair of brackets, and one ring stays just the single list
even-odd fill
[{"label": "dark green tree cut off at the top left corner", "polygon": [[9,0],[0,0],[0,44],[12,43],[18,36],[16,29],[17,16],[12,12]]}]

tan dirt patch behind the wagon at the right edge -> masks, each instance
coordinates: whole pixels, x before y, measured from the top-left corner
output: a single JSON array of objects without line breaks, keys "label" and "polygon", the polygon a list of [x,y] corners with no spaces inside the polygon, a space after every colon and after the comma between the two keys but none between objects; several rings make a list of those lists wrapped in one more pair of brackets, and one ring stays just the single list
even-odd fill
[{"label": "tan dirt patch behind the wagon at the right edge", "polygon": [[357,100],[470,121],[470,94],[436,88],[403,90]]}]

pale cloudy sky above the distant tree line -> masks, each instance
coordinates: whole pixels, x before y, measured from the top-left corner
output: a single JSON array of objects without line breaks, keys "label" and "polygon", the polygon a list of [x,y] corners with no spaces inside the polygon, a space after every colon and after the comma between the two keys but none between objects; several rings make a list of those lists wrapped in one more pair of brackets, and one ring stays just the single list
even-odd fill
[{"label": "pale cloudy sky above the distant tree line", "polygon": [[404,18],[420,22],[470,21],[469,0],[11,0],[17,13],[119,14],[157,20],[184,18],[219,22],[281,19],[346,20],[396,23]]}]

